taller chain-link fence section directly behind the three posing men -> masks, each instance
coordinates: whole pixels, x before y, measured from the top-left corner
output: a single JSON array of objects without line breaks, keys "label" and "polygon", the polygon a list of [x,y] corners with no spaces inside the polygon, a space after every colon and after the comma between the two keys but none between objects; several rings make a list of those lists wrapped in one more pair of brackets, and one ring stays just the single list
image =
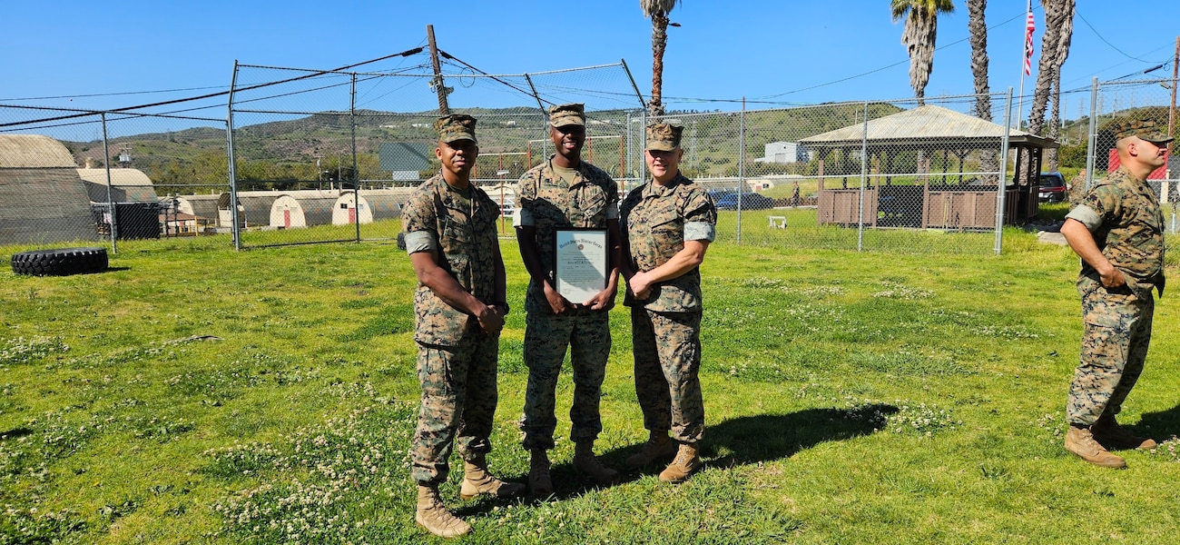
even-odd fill
[{"label": "taller chain-link fence section directly behind the three posing men", "polygon": [[[498,94],[530,105],[465,101]],[[517,179],[552,152],[548,107],[571,101],[586,105],[589,158],[621,175],[621,106],[640,104],[622,64],[511,75],[461,66],[445,78],[241,65],[230,99],[238,243],[394,238],[401,203],[440,169],[433,123],[444,106],[479,120],[472,177],[510,216]]]}]

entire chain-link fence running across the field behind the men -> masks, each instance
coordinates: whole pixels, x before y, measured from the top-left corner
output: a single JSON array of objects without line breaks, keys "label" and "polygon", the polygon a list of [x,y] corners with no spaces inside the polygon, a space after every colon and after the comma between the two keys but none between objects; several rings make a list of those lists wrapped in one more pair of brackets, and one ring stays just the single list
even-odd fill
[{"label": "entire chain-link fence running across the field behind the men", "polygon": [[[0,244],[393,239],[401,203],[439,170],[432,129],[439,87],[452,112],[479,119],[474,178],[502,204],[505,234],[516,180],[553,152],[543,113],[551,104],[586,104],[583,158],[622,192],[645,182],[644,126],[653,119],[638,107],[623,64],[514,75],[464,66],[441,80],[396,70],[242,65],[231,93],[201,100],[105,112],[0,105]],[[1056,126],[1060,149],[1003,130],[1016,123],[1011,97],[999,94],[988,97],[991,122],[976,116],[975,96],[666,119],[684,126],[681,170],[717,203],[719,243],[988,254],[1002,251],[1004,225],[1045,216],[1045,193],[1030,182],[1037,170],[1067,173],[1076,199],[1116,168],[1115,123],[1172,130],[1173,88],[1158,79],[1067,92],[1067,103],[1088,94],[1089,114],[1080,105],[1076,119]],[[214,117],[227,101],[229,119]],[[1176,232],[1176,171],[1169,157],[1149,179],[1169,232]]]}]

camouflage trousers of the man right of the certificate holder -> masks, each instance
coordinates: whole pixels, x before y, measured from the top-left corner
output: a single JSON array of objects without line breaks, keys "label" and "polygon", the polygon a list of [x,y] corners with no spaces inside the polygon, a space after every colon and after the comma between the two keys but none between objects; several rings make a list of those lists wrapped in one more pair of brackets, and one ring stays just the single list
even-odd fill
[{"label": "camouflage trousers of the man right of the certificate holder", "polygon": [[655,313],[631,307],[635,395],[643,427],[671,431],[680,442],[704,436],[701,396],[701,313]]}]

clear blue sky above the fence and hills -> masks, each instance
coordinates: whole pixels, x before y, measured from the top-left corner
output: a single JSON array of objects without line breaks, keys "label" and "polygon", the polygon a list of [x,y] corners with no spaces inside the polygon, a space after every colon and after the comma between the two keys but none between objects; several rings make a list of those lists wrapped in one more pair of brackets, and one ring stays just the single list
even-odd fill
[{"label": "clear blue sky above the fence and hills", "polygon": [[[972,90],[966,5],[955,4],[955,13],[939,19],[927,97]],[[1094,75],[1114,79],[1161,63],[1168,65],[1152,75],[1171,77],[1180,2],[1148,2],[1127,12],[1117,6],[1079,1],[1064,90],[1084,87]],[[1023,13],[1022,0],[989,2],[995,92],[1020,90]],[[1036,57],[1027,94],[1044,29],[1038,5],[1034,13]],[[671,19],[682,25],[669,28],[664,59],[671,109],[735,110],[734,103],[714,100],[742,97],[768,107],[912,96],[902,24],[890,20],[886,0],[687,0]],[[229,86],[235,60],[332,68],[424,46],[427,24],[434,25],[439,47],[490,73],[625,59],[640,90],[650,91],[650,24],[637,0],[58,0],[5,11],[0,104],[114,109],[215,92]],[[163,90],[182,91],[145,93]],[[44,97],[67,98],[30,100]],[[1088,97],[1069,96],[1064,117],[1076,117]]]}]

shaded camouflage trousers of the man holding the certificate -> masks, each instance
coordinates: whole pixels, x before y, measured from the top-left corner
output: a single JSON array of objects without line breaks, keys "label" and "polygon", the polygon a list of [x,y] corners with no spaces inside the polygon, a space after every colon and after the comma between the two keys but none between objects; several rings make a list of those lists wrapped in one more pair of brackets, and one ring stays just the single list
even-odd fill
[{"label": "shaded camouflage trousers of the man holding the certificate", "polygon": [[573,405],[570,440],[594,441],[602,432],[598,402],[610,356],[610,322],[605,310],[575,309],[560,315],[529,313],[524,320],[524,362],[529,386],[524,396],[520,431],[526,451],[553,448],[557,427],[557,377],[570,348],[573,368]]}]

